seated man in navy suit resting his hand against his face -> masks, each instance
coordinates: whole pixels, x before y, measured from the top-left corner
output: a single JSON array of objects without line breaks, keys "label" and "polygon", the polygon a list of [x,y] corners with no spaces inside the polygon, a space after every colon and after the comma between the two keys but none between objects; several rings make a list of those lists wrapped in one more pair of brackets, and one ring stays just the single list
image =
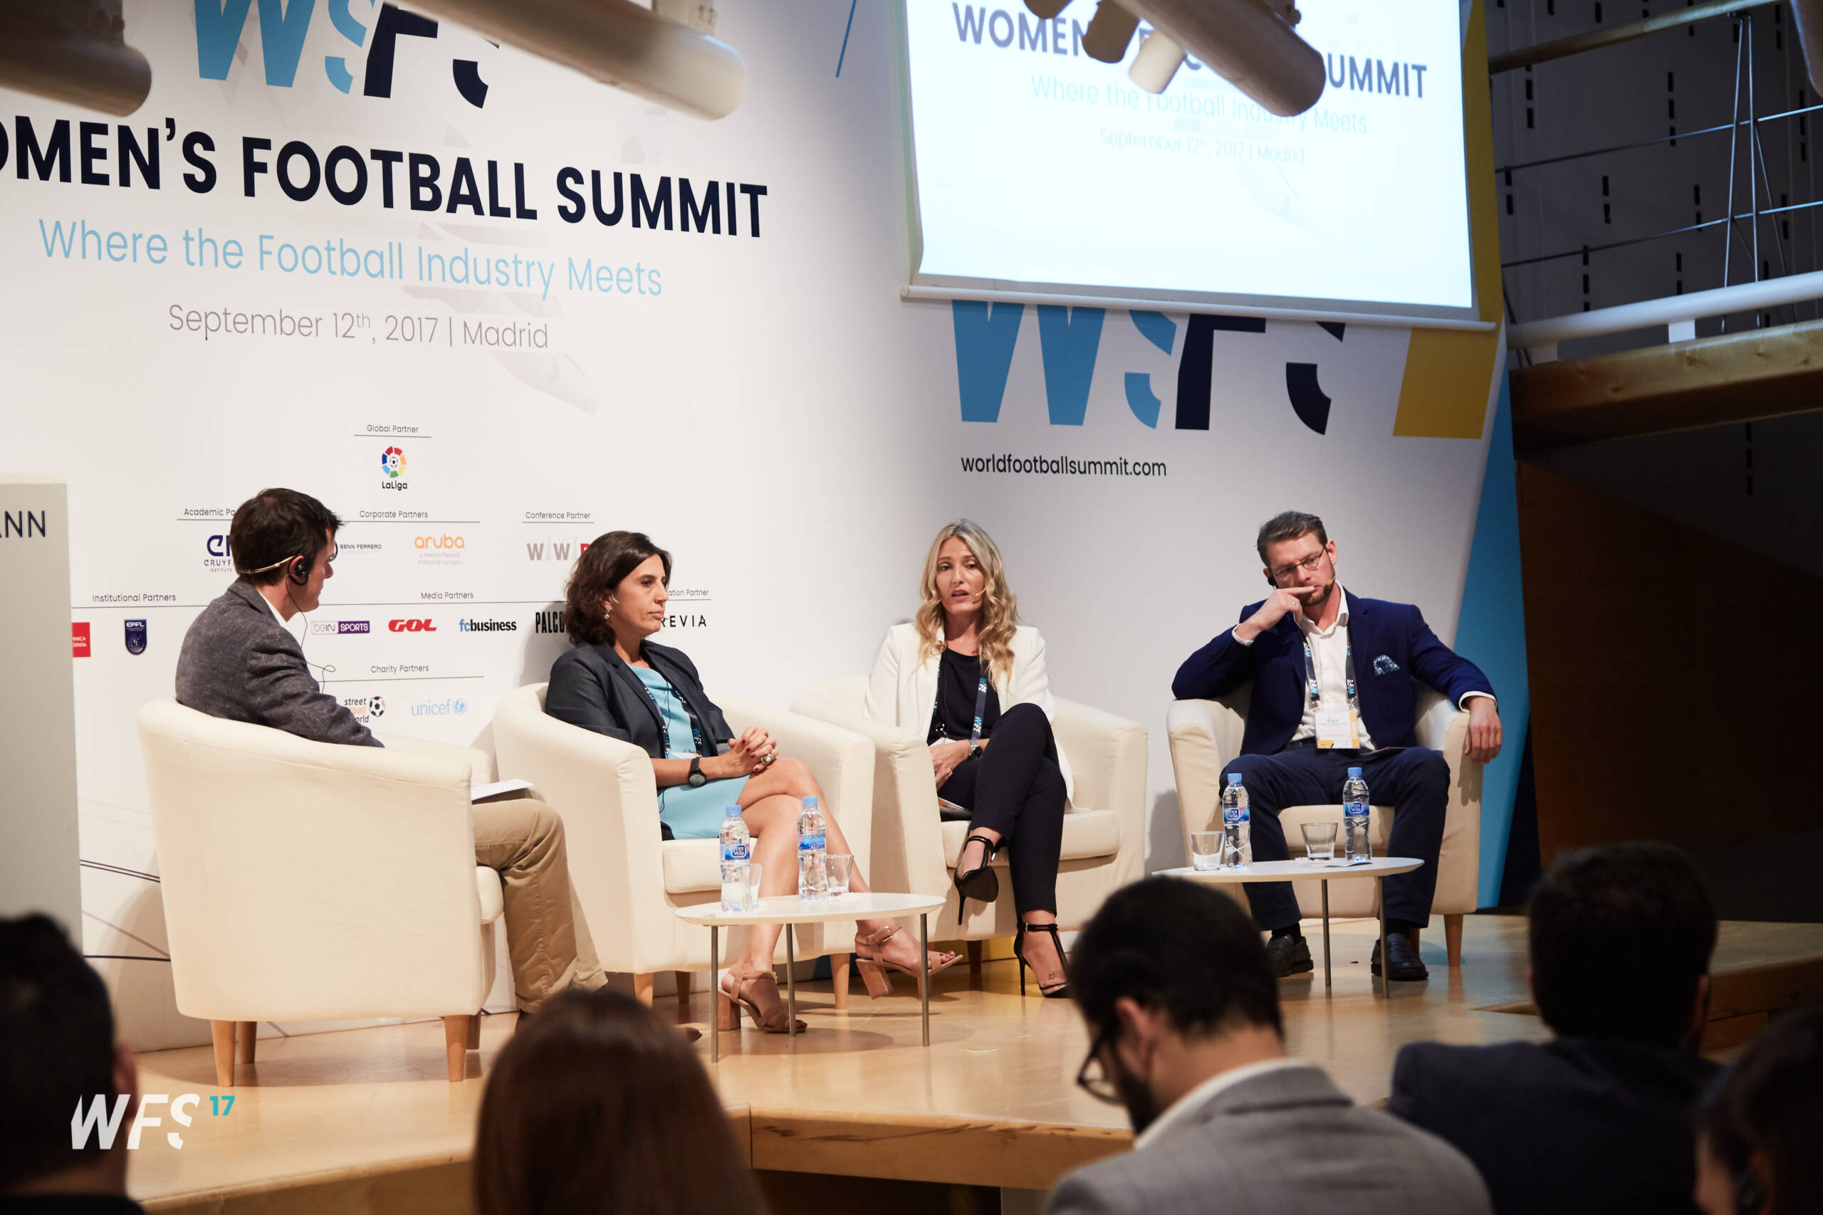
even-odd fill
[{"label": "seated man in navy suit resting his hand against his face", "polygon": [[[1336,581],[1336,543],[1313,514],[1287,510],[1260,526],[1260,559],[1272,594],[1241,610],[1241,623],[1190,654],[1170,690],[1207,699],[1252,683],[1241,754],[1223,771],[1247,787],[1256,860],[1289,860],[1278,822],[1289,805],[1342,801],[1347,769],[1360,767],[1376,805],[1393,807],[1393,856],[1422,867],[1384,882],[1385,976],[1427,978],[1413,934],[1429,924],[1437,854],[1444,843],[1449,765],[1413,745],[1413,679],[1469,714],[1468,758],[1500,754],[1493,685],[1437,639],[1409,603],[1362,599]],[[1289,882],[1249,882],[1254,920],[1271,929],[1267,956],[1283,978],[1311,969]],[[1380,975],[1375,944],[1373,973]]]}]

